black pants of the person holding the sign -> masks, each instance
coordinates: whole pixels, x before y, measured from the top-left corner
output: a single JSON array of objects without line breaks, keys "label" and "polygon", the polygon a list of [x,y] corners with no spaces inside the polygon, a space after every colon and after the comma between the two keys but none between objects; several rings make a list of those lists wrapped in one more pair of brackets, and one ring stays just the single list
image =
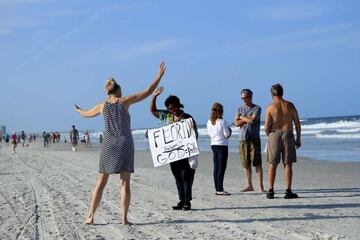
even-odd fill
[{"label": "black pants of the person holding the sign", "polygon": [[183,203],[189,203],[192,199],[191,188],[195,170],[190,168],[187,158],[171,162],[170,168],[175,177],[179,200]]}]

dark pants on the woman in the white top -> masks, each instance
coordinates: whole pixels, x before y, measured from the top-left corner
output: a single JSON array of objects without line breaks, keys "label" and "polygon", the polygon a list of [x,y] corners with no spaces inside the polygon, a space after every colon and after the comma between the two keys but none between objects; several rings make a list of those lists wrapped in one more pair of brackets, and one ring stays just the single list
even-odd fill
[{"label": "dark pants on the woman in the white top", "polygon": [[211,145],[214,161],[214,183],[217,192],[224,191],[224,175],[228,158],[228,146]]}]

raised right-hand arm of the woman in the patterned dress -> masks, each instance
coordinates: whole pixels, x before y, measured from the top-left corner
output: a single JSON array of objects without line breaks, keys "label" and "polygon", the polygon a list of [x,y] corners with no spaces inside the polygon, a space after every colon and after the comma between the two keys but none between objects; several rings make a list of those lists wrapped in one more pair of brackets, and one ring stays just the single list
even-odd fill
[{"label": "raised right-hand arm of the woman in the patterned dress", "polygon": [[150,96],[155,88],[157,87],[157,85],[159,84],[162,76],[165,73],[165,63],[161,62],[160,67],[159,67],[159,72],[157,74],[157,76],[155,77],[155,79],[150,83],[150,85],[142,92],[138,92],[129,96],[124,97],[123,103],[127,106],[130,106],[131,104],[140,102],[142,100],[144,100],[145,98],[147,98],[148,96]]}]

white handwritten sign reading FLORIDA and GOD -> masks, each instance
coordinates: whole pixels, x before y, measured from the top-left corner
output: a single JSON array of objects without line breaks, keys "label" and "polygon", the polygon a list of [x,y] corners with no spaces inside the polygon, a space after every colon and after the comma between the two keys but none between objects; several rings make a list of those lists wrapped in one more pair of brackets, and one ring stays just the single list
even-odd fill
[{"label": "white handwritten sign reading FLORIDA and GOD", "polygon": [[199,154],[191,119],[150,129],[148,139],[155,167]]}]

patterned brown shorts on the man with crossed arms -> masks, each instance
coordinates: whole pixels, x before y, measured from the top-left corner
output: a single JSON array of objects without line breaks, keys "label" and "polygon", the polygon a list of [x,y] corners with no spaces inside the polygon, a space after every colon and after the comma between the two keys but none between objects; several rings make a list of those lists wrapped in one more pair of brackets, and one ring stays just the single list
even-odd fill
[{"label": "patterned brown shorts on the man with crossed arms", "polygon": [[[259,138],[240,141],[240,160],[244,168],[261,166],[261,141]],[[251,164],[252,163],[252,164]]]}]

